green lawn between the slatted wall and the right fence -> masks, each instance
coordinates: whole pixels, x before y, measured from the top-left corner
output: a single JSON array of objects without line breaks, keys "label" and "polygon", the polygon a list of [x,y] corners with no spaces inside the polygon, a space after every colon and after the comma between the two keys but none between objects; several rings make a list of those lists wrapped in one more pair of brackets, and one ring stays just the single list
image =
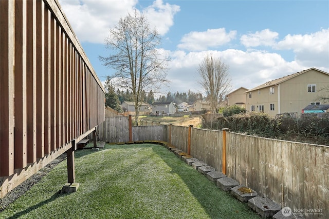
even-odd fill
[{"label": "green lawn between the slatted wall and the right fence", "polygon": [[77,192],[58,193],[64,161],[0,218],[260,218],[163,146],[106,145],[75,155]]}]

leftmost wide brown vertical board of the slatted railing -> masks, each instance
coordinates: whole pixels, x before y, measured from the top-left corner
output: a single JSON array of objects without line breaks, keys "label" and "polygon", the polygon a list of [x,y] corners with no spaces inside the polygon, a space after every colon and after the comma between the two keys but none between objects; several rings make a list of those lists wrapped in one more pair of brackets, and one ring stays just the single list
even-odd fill
[{"label": "leftmost wide brown vertical board of the slatted railing", "polygon": [[0,176],[8,176],[14,170],[14,8],[11,1],[0,1],[1,16],[1,74],[0,87],[2,110],[0,111],[1,148]]}]

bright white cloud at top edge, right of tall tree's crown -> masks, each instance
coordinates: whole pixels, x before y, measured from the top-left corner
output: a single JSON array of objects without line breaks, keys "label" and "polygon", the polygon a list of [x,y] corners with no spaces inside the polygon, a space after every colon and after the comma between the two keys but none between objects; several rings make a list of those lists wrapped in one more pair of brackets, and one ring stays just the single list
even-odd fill
[{"label": "bright white cloud at top edge, right of tall tree's crown", "polygon": [[177,5],[163,4],[162,0],[156,0],[143,10],[151,26],[156,27],[160,35],[165,35],[174,25],[174,15],[180,11]]}]

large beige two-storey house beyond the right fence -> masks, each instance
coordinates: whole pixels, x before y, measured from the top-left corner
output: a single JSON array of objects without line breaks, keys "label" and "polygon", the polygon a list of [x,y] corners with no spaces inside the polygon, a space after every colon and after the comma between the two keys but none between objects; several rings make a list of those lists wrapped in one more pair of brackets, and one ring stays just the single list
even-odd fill
[{"label": "large beige two-storey house beyond the right fence", "polygon": [[329,85],[329,73],[310,68],[290,74],[246,91],[247,111],[261,111],[275,116],[297,112],[307,105],[321,104],[321,88]]}]

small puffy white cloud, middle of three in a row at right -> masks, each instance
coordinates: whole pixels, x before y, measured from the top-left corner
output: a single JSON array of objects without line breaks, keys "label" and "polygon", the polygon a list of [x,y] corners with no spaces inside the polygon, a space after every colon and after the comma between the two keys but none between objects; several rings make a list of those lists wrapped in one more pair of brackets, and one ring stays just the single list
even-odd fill
[{"label": "small puffy white cloud, middle of three in a row at right", "polygon": [[245,47],[272,46],[275,45],[275,40],[279,33],[265,29],[256,31],[255,33],[244,34],[241,36],[241,44]]}]

